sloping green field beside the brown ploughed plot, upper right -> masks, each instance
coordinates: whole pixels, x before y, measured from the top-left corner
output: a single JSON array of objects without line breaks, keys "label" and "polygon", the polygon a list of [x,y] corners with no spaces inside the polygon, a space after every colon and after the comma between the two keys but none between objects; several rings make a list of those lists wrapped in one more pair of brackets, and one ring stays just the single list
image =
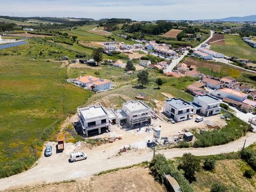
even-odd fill
[{"label": "sloping green field beside the brown ploughed plot, upper right", "polygon": [[212,45],[211,49],[227,55],[256,61],[256,49],[245,43],[241,37],[225,35],[226,45]]}]

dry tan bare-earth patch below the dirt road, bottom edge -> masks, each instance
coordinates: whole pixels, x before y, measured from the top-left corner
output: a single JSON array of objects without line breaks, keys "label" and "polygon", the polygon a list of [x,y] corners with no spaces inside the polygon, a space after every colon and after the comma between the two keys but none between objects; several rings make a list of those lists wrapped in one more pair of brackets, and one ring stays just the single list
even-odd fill
[{"label": "dry tan bare-earth patch below the dirt road, bottom edge", "polygon": [[150,175],[148,169],[142,167],[132,167],[130,169],[119,170],[112,173],[94,176],[90,180],[77,180],[73,182],[59,182],[43,184],[38,186],[29,186],[23,188],[15,188],[7,191],[62,191],[62,192],[113,192],[113,191],[129,191],[129,192],[147,192],[147,191],[166,191],[163,185],[160,185]]}]

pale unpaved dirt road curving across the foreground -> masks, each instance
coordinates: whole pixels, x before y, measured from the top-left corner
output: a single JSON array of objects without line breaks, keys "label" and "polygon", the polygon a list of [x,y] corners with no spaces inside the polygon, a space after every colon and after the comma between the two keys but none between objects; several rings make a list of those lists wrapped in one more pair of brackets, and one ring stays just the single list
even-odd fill
[{"label": "pale unpaved dirt road curving across the foreground", "polygon": [[[164,154],[167,158],[182,156],[184,153],[191,153],[197,156],[230,153],[232,151],[241,150],[245,139],[245,146],[249,146],[256,142],[256,134],[248,133],[247,137],[222,146],[159,150],[157,153]],[[55,145],[55,143],[52,143],[52,145]],[[88,150],[85,151],[88,155],[87,160],[69,163],[69,154],[74,149],[75,146],[73,144],[67,143],[63,153],[53,154],[51,157],[41,157],[38,160],[38,164],[32,169],[9,178],[1,179],[0,190],[14,186],[35,185],[36,183],[42,182],[49,183],[78,178],[87,179],[100,171],[150,161],[153,156],[153,151],[137,151],[108,158],[109,154],[107,149],[101,149],[101,151]]]}]

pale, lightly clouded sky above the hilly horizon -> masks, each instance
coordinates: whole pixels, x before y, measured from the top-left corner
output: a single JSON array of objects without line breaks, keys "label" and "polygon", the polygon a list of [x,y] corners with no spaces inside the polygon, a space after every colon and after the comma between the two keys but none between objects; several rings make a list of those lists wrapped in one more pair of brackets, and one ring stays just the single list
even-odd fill
[{"label": "pale, lightly clouded sky above the hilly horizon", "polygon": [[0,0],[0,15],[157,19],[216,19],[255,14],[256,0]]}]

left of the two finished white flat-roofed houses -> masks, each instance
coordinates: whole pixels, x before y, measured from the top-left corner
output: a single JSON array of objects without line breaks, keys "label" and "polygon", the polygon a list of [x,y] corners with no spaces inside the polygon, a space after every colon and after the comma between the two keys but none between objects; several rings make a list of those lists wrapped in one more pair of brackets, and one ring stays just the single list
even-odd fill
[{"label": "left of the two finished white flat-roofed houses", "polygon": [[167,99],[164,104],[164,113],[177,122],[192,118],[195,113],[194,109],[191,103],[181,98]]}]

